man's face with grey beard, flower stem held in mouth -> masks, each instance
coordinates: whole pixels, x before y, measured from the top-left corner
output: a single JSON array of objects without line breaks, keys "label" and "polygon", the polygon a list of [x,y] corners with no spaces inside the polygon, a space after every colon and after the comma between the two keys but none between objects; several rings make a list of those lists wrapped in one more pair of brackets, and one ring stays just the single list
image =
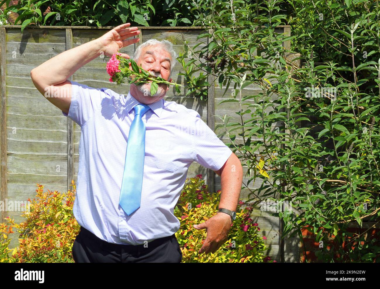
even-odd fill
[{"label": "man's face with grey beard, flower stem held in mouth", "polygon": [[[161,77],[171,81],[171,79],[169,80],[171,61],[171,55],[162,47],[148,46],[142,49],[141,56],[136,63],[154,77]],[[166,91],[169,90],[168,85],[160,83],[157,92],[152,96],[150,95],[150,83],[136,85],[136,88],[144,96],[157,100],[164,97]]]}]

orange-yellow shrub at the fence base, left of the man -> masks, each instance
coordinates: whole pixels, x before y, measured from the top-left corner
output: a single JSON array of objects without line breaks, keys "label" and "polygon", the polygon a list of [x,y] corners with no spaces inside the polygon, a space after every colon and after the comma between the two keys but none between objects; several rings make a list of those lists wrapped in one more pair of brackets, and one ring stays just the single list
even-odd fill
[{"label": "orange-yellow shrub at the fence base, left of the man", "polygon": [[63,194],[50,190],[44,193],[44,186],[37,186],[36,198],[28,199],[29,210],[22,215],[25,221],[17,225],[7,218],[20,233],[19,246],[7,262],[74,262],[71,249],[79,232],[73,216],[74,182],[73,189]]}]

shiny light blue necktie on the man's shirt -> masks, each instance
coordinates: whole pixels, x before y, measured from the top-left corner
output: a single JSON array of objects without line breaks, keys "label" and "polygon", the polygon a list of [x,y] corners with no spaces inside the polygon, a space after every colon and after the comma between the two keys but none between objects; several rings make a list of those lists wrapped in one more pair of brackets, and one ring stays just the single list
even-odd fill
[{"label": "shiny light blue necktie on the man's shirt", "polygon": [[145,158],[145,124],[141,118],[149,110],[149,106],[138,104],[133,109],[135,118],[128,135],[119,199],[120,206],[128,216],[140,207]]}]

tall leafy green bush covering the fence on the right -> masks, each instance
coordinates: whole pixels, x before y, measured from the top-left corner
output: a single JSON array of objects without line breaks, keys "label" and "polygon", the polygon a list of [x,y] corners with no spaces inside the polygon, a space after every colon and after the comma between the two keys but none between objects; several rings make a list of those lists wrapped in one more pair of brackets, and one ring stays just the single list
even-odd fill
[{"label": "tall leafy green bush covering the fence on the right", "polygon": [[[298,34],[278,32],[290,19],[285,4]],[[285,223],[282,238],[302,238],[305,226],[317,242],[336,236],[338,249],[319,248],[319,261],[379,262],[377,237],[343,246],[365,239],[348,223],[380,219],[378,1],[198,1],[197,9],[193,25],[209,33],[198,36],[204,46],[187,45],[193,57],[181,64],[189,82],[196,71],[214,78],[226,95],[219,104],[236,107],[235,118],[217,116],[215,131],[246,168],[249,201],[292,205],[273,214]],[[203,97],[199,83],[192,90]]]}]

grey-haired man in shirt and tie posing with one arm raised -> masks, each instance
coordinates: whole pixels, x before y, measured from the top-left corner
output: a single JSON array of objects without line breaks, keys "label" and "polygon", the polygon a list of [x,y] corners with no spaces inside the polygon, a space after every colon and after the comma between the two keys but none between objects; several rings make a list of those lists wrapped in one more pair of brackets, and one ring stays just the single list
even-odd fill
[{"label": "grey-haired man in shirt and tie posing with one arm raised", "polygon": [[[180,262],[175,237],[180,223],[173,210],[192,162],[214,170],[222,182],[220,210],[194,225],[207,232],[198,252],[215,252],[235,217],[243,175],[239,159],[198,112],[163,99],[167,85],[150,95],[150,83],[132,84],[125,96],[67,80],[101,54],[111,57],[138,42],[133,36],[139,32],[129,23],[119,25],[30,73],[38,91],[81,127],[75,262]],[[170,42],[146,41],[134,60],[153,76],[172,81],[176,53]]]}]

